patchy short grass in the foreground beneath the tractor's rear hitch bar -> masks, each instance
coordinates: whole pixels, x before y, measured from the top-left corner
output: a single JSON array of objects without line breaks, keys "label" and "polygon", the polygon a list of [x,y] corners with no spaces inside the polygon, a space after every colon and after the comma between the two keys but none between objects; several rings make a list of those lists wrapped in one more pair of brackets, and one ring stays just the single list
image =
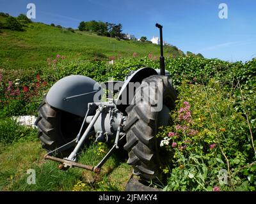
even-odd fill
[{"label": "patchy short grass in the foreground beneath the tractor's rear hitch bar", "polygon": [[[99,148],[104,149],[99,153]],[[97,164],[108,151],[102,144],[92,144],[79,156],[79,162]],[[100,175],[92,171],[71,168],[58,170],[58,163],[45,161],[40,142],[18,142],[0,154],[1,191],[124,191],[131,177],[131,167],[117,157],[111,157]],[[27,170],[36,172],[36,184],[27,184]],[[81,182],[86,187],[74,187]]]}]

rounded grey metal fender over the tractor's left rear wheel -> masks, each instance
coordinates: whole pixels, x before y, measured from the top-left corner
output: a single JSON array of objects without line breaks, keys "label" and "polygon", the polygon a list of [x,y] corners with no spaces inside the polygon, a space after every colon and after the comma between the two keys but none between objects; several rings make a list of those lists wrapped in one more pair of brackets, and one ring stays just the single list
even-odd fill
[{"label": "rounded grey metal fender over the tractor's left rear wheel", "polygon": [[88,103],[99,102],[100,96],[102,88],[95,80],[81,75],[70,75],[52,85],[46,101],[54,108],[84,117]]}]

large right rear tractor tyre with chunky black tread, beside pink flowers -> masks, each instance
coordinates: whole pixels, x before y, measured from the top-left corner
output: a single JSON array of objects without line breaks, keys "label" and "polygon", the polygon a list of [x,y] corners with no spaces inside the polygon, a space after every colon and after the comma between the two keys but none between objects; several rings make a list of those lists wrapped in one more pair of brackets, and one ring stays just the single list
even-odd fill
[{"label": "large right rear tractor tyre with chunky black tread, beside pink flowers", "polygon": [[[156,85],[150,85],[157,83]],[[143,89],[143,96],[141,96]],[[148,97],[148,94],[161,93],[163,97],[163,108],[159,111],[152,111],[156,104],[160,103],[159,97],[150,97],[148,103],[140,104],[138,99],[142,100]],[[154,94],[153,94],[154,95]],[[149,95],[150,96],[150,95]],[[145,78],[136,89],[132,105],[126,108],[127,125],[127,143],[124,149],[128,151],[128,164],[133,166],[134,175],[141,179],[156,179],[159,175],[163,157],[159,155],[159,139],[156,138],[159,126],[166,126],[170,120],[170,110],[175,106],[177,94],[170,84],[168,77],[161,75],[152,75]],[[136,103],[137,102],[137,103]],[[162,157],[162,160],[161,160]]]}]

